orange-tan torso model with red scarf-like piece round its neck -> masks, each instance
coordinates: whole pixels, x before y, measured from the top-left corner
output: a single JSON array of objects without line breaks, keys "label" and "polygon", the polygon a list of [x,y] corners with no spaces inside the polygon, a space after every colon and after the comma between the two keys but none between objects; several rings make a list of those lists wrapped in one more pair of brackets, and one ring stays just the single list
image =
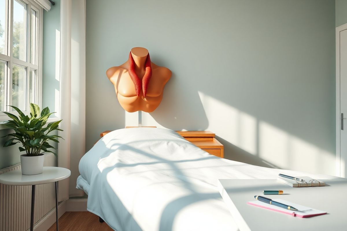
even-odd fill
[{"label": "orange-tan torso model with red scarf-like piece round its neck", "polygon": [[153,112],[163,98],[171,71],[152,63],[146,48],[134,47],[128,61],[109,68],[106,75],[115,86],[120,105],[127,112]]}]

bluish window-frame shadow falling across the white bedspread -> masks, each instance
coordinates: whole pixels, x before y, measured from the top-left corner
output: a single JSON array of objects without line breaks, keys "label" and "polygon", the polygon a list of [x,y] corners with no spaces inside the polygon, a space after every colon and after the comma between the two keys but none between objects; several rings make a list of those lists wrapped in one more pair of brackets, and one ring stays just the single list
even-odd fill
[{"label": "bluish window-frame shadow falling across the white bedspread", "polygon": [[[145,141],[142,140],[141,142],[145,142]],[[175,141],[175,142],[177,142],[177,141]],[[134,143],[136,143],[136,142],[132,142],[132,145],[134,145]],[[118,145],[119,144],[117,144],[117,143],[113,144],[111,147],[109,147],[109,149],[112,149],[113,146],[118,146]],[[120,151],[132,150],[133,152],[136,152],[136,154],[140,154],[140,155],[143,155],[143,156],[146,156],[148,158],[153,159],[153,161],[152,162],[138,162],[138,163],[132,163],[132,164],[118,162],[115,165],[107,167],[107,168],[103,169],[102,171],[100,171],[100,174],[99,174],[100,178],[99,179],[96,178],[99,181],[99,183],[101,183],[101,185],[100,185],[101,187],[99,189],[100,204],[106,205],[107,208],[105,208],[105,206],[100,207],[100,214],[98,214],[97,211],[91,211],[91,212],[100,216],[103,220],[105,220],[111,226],[111,228],[113,228],[115,230],[118,230],[118,228],[120,228],[119,230],[142,230],[141,227],[139,226],[139,224],[135,221],[132,214],[127,210],[125,205],[122,203],[120,198],[117,196],[116,192],[110,186],[108,181],[102,179],[102,178],[106,179],[109,172],[115,168],[136,167],[139,165],[155,165],[155,164],[159,164],[159,163],[164,163],[168,166],[168,169],[170,169],[174,172],[175,176],[179,176],[179,177],[177,177],[177,179],[179,179],[183,183],[184,187],[189,189],[192,192],[191,195],[189,195],[187,197],[180,198],[180,199],[178,199],[177,202],[171,202],[168,206],[166,206],[165,210],[163,211],[163,214],[167,214],[165,216],[166,219],[160,220],[160,229],[159,230],[172,230],[172,223],[175,220],[175,216],[179,212],[179,210],[181,208],[183,208],[184,206],[187,206],[187,205],[194,203],[196,201],[201,201],[204,199],[210,199],[210,198],[217,198],[218,197],[218,194],[208,194],[208,195],[197,194],[194,190],[194,185],[190,183],[189,178],[187,178],[185,176],[185,174],[175,164],[175,163],[181,163],[181,162],[197,162],[197,161],[202,161],[202,160],[213,159],[213,158],[215,158],[213,156],[207,156],[207,157],[202,157],[199,159],[191,159],[191,160],[171,161],[171,160],[167,160],[165,158],[155,156],[151,153],[142,151],[140,149],[134,148],[134,146],[129,146],[128,144],[121,144],[120,146],[118,146],[117,150],[120,150]],[[102,158],[106,158],[106,157],[107,156],[103,156]],[[102,159],[102,158],[100,158],[100,159]],[[139,174],[139,172],[134,172],[134,174]],[[105,195],[105,193],[107,193],[107,192],[113,192],[113,195]],[[109,201],[109,200],[111,200],[111,201]],[[186,202],[186,203],[183,203],[183,202]],[[123,214],[118,216],[120,211]],[[124,213],[126,213],[126,214],[124,214]],[[112,216],[113,222],[109,220],[110,216]],[[123,217],[126,217],[126,218],[122,219]],[[117,222],[115,222],[115,221],[117,221]],[[120,227],[115,227],[114,224],[120,225]],[[124,224],[127,224],[127,225],[125,226]],[[131,225],[128,226],[128,224],[131,224]]]}]

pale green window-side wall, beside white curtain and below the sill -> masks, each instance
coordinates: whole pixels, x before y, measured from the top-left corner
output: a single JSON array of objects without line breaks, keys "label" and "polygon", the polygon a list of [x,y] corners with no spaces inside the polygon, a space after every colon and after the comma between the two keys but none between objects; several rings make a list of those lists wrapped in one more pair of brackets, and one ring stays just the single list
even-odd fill
[{"label": "pale green window-side wall, beside white curtain and below the sill", "polygon": [[[55,6],[49,12],[43,13],[43,107],[49,107],[54,111],[54,91],[59,90],[59,82],[55,79],[55,54],[56,54],[56,29],[60,27],[60,0],[55,0]],[[52,116],[51,116],[52,117]],[[10,129],[0,130],[0,137],[13,131]],[[57,133],[55,133],[57,134]],[[20,162],[18,150],[19,144],[3,147],[6,138],[0,138],[0,169]],[[56,143],[51,145],[57,148]]]}]

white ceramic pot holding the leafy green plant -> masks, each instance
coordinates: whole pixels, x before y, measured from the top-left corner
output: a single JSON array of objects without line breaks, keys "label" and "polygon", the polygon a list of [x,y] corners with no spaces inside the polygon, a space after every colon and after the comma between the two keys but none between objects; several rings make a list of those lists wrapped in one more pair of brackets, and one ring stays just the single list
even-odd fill
[{"label": "white ceramic pot holding the leafy green plant", "polygon": [[20,165],[23,175],[36,175],[43,171],[44,154],[28,157],[26,154],[20,155]]}]

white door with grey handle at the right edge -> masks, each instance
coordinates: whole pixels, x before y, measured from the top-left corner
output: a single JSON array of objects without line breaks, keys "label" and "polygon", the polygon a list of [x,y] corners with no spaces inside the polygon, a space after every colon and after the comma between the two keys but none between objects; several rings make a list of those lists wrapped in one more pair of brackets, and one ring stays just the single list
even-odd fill
[{"label": "white door with grey handle at the right edge", "polygon": [[347,24],[336,29],[337,175],[347,177]]}]

